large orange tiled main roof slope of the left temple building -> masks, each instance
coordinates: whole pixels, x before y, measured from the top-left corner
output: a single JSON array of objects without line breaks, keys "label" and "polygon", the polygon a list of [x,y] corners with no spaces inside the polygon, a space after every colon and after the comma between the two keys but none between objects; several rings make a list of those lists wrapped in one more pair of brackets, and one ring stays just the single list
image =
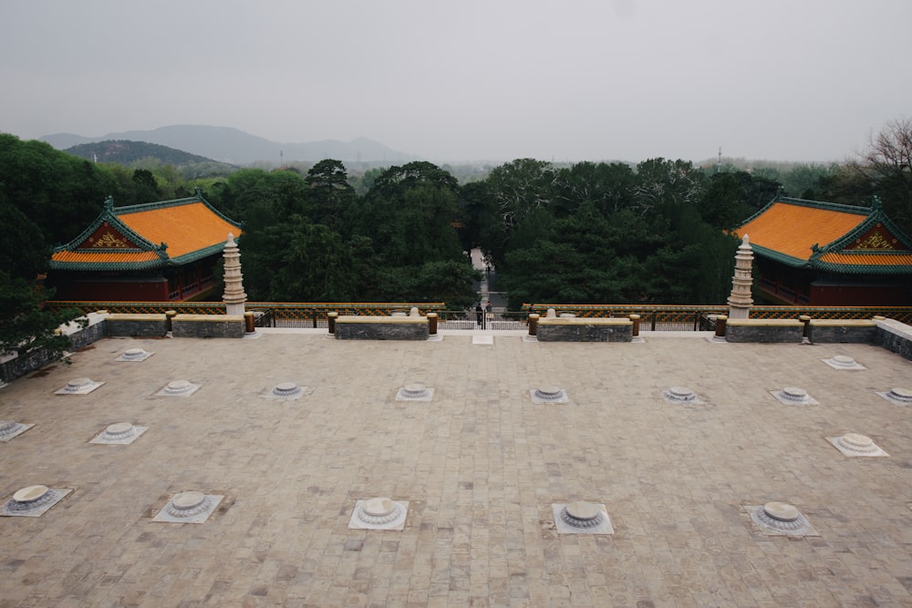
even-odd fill
[{"label": "large orange tiled main roof slope of the left temple building", "polygon": [[130,230],[147,241],[167,243],[167,252],[171,258],[225,242],[228,232],[240,236],[240,229],[235,224],[213,213],[202,201],[149,211],[118,213],[118,217]]}]

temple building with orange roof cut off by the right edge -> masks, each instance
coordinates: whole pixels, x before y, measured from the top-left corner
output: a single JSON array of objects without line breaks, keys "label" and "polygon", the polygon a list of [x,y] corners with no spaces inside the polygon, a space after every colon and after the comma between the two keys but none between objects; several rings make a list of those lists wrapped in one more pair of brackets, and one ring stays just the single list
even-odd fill
[{"label": "temple building with orange roof cut off by the right edge", "polygon": [[860,207],[779,196],[735,232],[750,239],[754,292],[769,304],[912,305],[912,238],[876,198]]}]

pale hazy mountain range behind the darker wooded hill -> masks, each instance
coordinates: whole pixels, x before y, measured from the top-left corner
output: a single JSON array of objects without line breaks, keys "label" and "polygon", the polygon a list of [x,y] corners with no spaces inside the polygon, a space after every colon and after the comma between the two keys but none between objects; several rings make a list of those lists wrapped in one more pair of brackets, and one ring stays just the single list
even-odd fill
[{"label": "pale hazy mountain range behind the darker wooded hill", "polygon": [[249,165],[260,161],[279,164],[281,161],[324,159],[383,161],[390,164],[419,160],[414,155],[389,149],[377,141],[365,138],[347,142],[326,139],[309,143],[277,143],[239,129],[203,125],[172,125],[146,131],[109,133],[98,138],[57,133],[40,139],[57,149],[108,140],[146,141],[234,165]]}]

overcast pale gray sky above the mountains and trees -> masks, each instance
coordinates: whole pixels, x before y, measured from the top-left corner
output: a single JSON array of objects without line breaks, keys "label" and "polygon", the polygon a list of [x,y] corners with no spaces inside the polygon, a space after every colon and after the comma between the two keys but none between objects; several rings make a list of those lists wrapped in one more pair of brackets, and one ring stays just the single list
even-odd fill
[{"label": "overcast pale gray sky above the mountains and trees", "polygon": [[173,124],[433,161],[844,160],[912,115],[909,0],[7,0],[0,130]]}]

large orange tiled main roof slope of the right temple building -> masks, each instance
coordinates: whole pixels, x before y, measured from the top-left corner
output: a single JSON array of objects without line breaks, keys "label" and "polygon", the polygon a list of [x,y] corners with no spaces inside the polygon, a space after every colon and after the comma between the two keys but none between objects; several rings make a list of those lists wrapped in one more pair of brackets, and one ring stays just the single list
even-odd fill
[{"label": "large orange tiled main roof slope of the right temple building", "polygon": [[866,215],[831,211],[776,201],[738,229],[751,245],[760,245],[799,260],[809,260],[811,246],[823,246],[851,232]]}]

